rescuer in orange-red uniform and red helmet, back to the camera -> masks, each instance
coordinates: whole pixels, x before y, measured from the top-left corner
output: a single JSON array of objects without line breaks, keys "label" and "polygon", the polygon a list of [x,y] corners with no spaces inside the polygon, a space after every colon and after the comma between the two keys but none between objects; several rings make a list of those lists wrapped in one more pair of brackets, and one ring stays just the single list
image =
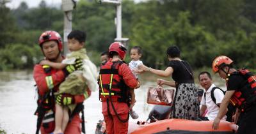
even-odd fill
[{"label": "rescuer in orange-red uniform and red helmet, back to the camera", "polygon": [[130,88],[140,87],[129,66],[122,61],[126,48],[114,42],[109,46],[109,60],[100,66],[99,98],[108,134],[128,132]]}]

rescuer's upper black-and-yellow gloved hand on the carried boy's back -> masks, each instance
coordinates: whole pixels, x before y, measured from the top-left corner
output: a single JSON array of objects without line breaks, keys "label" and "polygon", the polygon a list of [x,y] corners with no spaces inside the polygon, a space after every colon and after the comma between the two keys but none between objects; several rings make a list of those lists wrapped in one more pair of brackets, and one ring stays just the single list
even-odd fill
[{"label": "rescuer's upper black-and-yellow gloved hand on the carried boy's back", "polygon": [[68,76],[70,73],[73,73],[76,70],[83,70],[83,59],[77,58],[74,64],[68,64],[63,71],[65,75]]}]

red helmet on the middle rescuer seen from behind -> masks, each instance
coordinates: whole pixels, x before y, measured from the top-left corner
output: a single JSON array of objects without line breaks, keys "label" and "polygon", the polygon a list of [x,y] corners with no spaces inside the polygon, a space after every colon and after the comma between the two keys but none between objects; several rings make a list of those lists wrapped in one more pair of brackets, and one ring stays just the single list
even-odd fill
[{"label": "red helmet on the middle rescuer seen from behind", "polygon": [[126,48],[124,45],[120,42],[114,42],[111,43],[111,45],[108,48],[108,52],[117,52],[117,54],[121,57],[121,59],[124,59],[124,56],[126,54]]}]

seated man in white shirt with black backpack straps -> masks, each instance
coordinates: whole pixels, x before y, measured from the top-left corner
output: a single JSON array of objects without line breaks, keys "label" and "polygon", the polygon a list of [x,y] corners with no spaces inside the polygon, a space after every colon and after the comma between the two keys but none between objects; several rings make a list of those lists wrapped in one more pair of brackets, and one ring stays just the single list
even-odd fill
[{"label": "seated man in white shirt with black backpack straps", "polygon": [[[203,94],[200,103],[202,105],[202,107],[200,108],[200,117],[205,113],[205,110],[207,109],[208,112],[205,115],[205,117],[207,118],[205,118],[204,120],[208,119],[212,121],[218,115],[220,104],[224,97],[224,93],[223,91],[221,91],[219,87],[216,88],[216,86],[212,84],[212,78],[209,72],[202,71],[199,74],[198,78],[200,85],[205,89],[205,93]],[[212,90],[214,90],[213,93],[211,93]],[[211,94],[214,96],[211,96]],[[215,98],[215,102],[214,100],[212,100],[212,98]],[[226,118],[227,116],[225,115],[221,120],[226,121]]]}]

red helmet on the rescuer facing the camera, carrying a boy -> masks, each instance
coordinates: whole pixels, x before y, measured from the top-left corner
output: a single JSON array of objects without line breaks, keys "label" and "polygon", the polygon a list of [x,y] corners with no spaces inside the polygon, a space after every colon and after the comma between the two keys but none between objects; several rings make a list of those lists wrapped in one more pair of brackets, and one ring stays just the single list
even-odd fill
[{"label": "red helmet on the rescuer facing the camera, carrying a boy", "polygon": [[42,43],[44,43],[45,41],[50,41],[50,40],[56,40],[58,42],[59,49],[62,50],[61,36],[56,31],[45,31],[44,33],[42,33],[39,38],[39,41],[38,41],[40,47],[41,47]]}]

